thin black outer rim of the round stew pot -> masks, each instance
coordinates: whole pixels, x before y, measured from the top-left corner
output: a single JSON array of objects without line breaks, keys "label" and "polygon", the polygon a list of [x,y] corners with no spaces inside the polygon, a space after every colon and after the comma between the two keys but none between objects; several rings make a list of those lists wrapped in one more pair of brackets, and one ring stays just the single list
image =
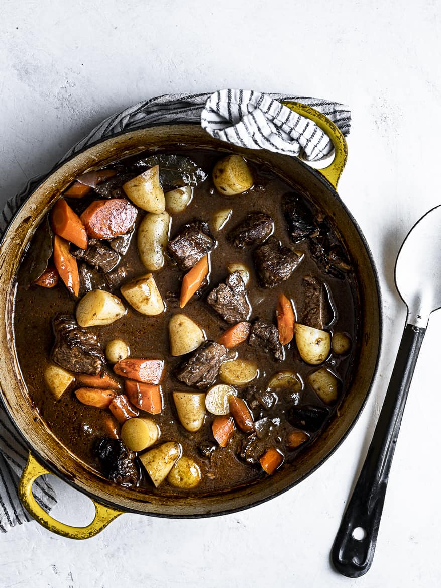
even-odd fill
[{"label": "thin black outer rim of the round stew pot", "polygon": [[[76,151],[75,153],[73,153],[69,158],[65,159],[62,162],[57,163],[52,169],[51,171],[49,171],[48,173],[46,173],[44,176],[42,176],[42,178],[40,179],[40,181],[38,182],[38,184],[34,187],[34,189],[32,190],[32,192],[29,194],[28,198],[39,188],[39,186],[42,185],[42,183],[44,183],[51,175],[52,173],[56,172],[58,169],[60,169],[62,166],[65,165],[65,163],[68,163],[69,161],[72,161],[72,159],[75,159],[76,156],[80,155],[81,153],[84,153],[86,151],[88,151],[88,149],[91,149],[92,147],[99,145],[99,143],[104,143],[105,141],[109,141],[111,139],[113,139],[114,137],[118,137],[121,135],[126,135],[127,133],[130,132],[136,132],[136,131],[141,131],[142,129],[147,129],[147,128],[151,128],[151,127],[156,127],[156,126],[182,126],[182,125],[199,125],[199,123],[197,122],[173,122],[170,125],[164,125],[163,123],[153,123],[153,124],[149,124],[149,125],[140,125],[137,126],[135,129],[127,129],[126,131],[120,131],[118,133],[114,133],[112,136],[108,137],[103,137],[101,139],[98,139],[98,141],[95,141],[93,143],[90,143],[89,145],[83,147],[82,149],[79,149],[78,151]],[[223,142],[219,140],[220,145],[223,145]],[[178,145],[185,145],[185,142],[179,143]],[[228,148],[225,148],[225,151],[228,151]],[[249,151],[253,152],[253,149],[250,149]],[[258,150],[256,150],[258,151]],[[283,156],[282,156],[283,157]],[[103,505],[107,505],[110,506],[112,508],[121,510],[122,513],[133,513],[135,515],[144,515],[144,516],[154,516],[154,517],[158,517],[161,519],[205,519],[207,517],[214,517],[214,516],[221,516],[221,515],[229,515],[232,513],[236,513],[236,512],[240,512],[241,510],[247,510],[250,509],[254,506],[258,506],[258,505],[262,505],[264,502],[267,502],[268,500],[272,500],[273,498],[276,498],[280,495],[282,495],[285,492],[288,492],[288,490],[291,490],[293,487],[297,486],[300,482],[303,482],[303,480],[305,480],[307,477],[309,477],[310,475],[312,475],[312,473],[316,472],[316,470],[323,465],[323,463],[325,463],[329,457],[331,457],[333,455],[333,453],[335,453],[335,451],[338,449],[338,447],[340,447],[340,445],[342,445],[343,441],[346,439],[346,437],[349,435],[349,433],[351,432],[351,430],[353,429],[353,426],[355,426],[355,423],[358,421],[362,410],[365,408],[366,406],[366,402],[368,400],[368,397],[370,395],[370,392],[372,390],[373,387],[373,383],[376,380],[376,375],[378,372],[378,368],[379,368],[379,362],[380,362],[380,356],[382,354],[382,349],[383,349],[383,299],[382,299],[382,293],[381,293],[381,289],[380,289],[380,281],[379,281],[379,276],[378,276],[378,272],[377,272],[377,268],[375,265],[375,262],[373,260],[373,255],[372,252],[370,250],[370,247],[368,245],[368,242],[366,241],[365,235],[363,235],[362,230],[360,229],[360,226],[358,224],[358,222],[355,220],[355,218],[353,217],[352,213],[349,211],[348,207],[345,205],[345,203],[342,201],[342,199],[340,198],[338,192],[336,191],[335,187],[326,179],[323,177],[323,175],[320,173],[319,169],[315,169],[312,168],[311,166],[309,166],[307,163],[305,163],[304,161],[302,161],[302,159],[297,158],[298,162],[300,163],[300,165],[302,165],[307,171],[309,171],[310,173],[312,173],[312,175],[314,175],[316,178],[319,179],[320,182],[325,183],[326,187],[328,189],[330,189],[330,191],[333,193],[334,198],[337,199],[337,201],[339,202],[339,204],[342,206],[343,210],[346,212],[346,214],[348,215],[350,221],[352,222],[352,224],[355,226],[360,239],[362,240],[363,246],[366,249],[366,253],[368,254],[368,258],[369,258],[369,262],[370,265],[372,267],[372,273],[374,276],[374,280],[375,280],[375,288],[376,288],[376,293],[377,293],[377,298],[378,298],[378,303],[379,303],[379,335],[378,335],[378,352],[377,352],[377,356],[376,356],[376,360],[375,360],[375,368],[373,369],[373,373],[372,373],[372,378],[370,380],[370,384],[368,387],[368,390],[366,390],[366,395],[363,399],[362,405],[360,406],[358,412],[356,413],[354,419],[352,420],[352,423],[350,423],[348,429],[346,429],[345,433],[343,433],[343,436],[341,437],[341,439],[338,441],[338,443],[336,443],[330,450],[329,452],[322,457],[322,459],[312,468],[309,470],[308,473],[306,473],[305,475],[303,475],[302,477],[300,477],[298,480],[296,480],[295,482],[293,482],[292,484],[289,484],[287,486],[285,486],[284,488],[282,488],[281,490],[279,490],[278,492],[275,492],[274,494],[270,495],[270,496],[266,496],[265,498],[259,499],[259,500],[255,500],[254,502],[250,502],[249,504],[243,505],[243,506],[239,506],[236,508],[230,508],[227,510],[220,510],[220,511],[216,511],[216,512],[208,512],[208,513],[204,513],[201,515],[167,515],[167,514],[162,514],[162,513],[146,513],[142,510],[136,510],[136,509],[132,509],[129,507],[125,507],[125,506],[120,506],[119,504],[115,504],[112,503],[109,500],[105,500],[102,499],[101,496],[96,496],[95,494],[93,494],[93,492],[90,492],[89,490],[84,489],[81,486],[76,485],[76,483],[74,481],[72,481],[71,479],[69,479],[68,476],[66,476],[65,474],[61,473],[58,471],[58,469],[56,468],[55,465],[53,465],[51,462],[49,462],[48,460],[46,460],[44,457],[42,457],[38,451],[36,451],[36,449],[32,446],[31,442],[28,441],[28,439],[26,439],[26,437],[23,435],[23,433],[21,432],[21,430],[18,428],[18,426],[15,423],[15,420],[12,418],[11,413],[9,413],[8,407],[6,406],[6,403],[4,402],[3,399],[3,393],[2,390],[0,389],[0,402],[2,403],[2,406],[5,409],[6,414],[9,417],[9,420],[11,421],[12,425],[14,426],[14,429],[16,430],[16,432],[18,433],[19,437],[21,437],[21,439],[24,441],[25,446],[27,447],[27,449],[29,450],[30,453],[32,453],[32,455],[34,455],[36,457],[36,459],[42,464],[44,465],[44,467],[46,467],[54,476],[58,477],[59,479],[63,480],[63,482],[65,482],[66,484],[68,484],[69,486],[73,487],[75,490],[78,490],[78,492],[81,492],[83,495],[88,496],[90,499],[95,500],[96,502],[102,503]],[[9,230],[9,226],[11,225],[12,221],[15,219],[16,215],[18,215],[18,212],[21,210],[22,206],[25,205],[25,203],[28,201],[28,198],[25,199],[24,202],[21,203],[21,205],[18,206],[18,208],[16,209],[16,211],[14,212],[14,215],[11,216],[11,219],[9,219],[8,221],[8,226],[6,226],[6,229],[3,233],[3,235],[0,238],[0,246],[2,245],[6,233],[8,233]],[[226,496],[226,494],[224,495]],[[219,495],[219,499],[222,499],[222,495]]]}]

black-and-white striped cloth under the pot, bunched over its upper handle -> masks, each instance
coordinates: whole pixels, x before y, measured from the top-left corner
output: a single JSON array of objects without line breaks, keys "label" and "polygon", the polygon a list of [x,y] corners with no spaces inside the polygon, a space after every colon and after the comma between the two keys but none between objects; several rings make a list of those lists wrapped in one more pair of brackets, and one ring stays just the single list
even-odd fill
[{"label": "black-and-white striped cloth under the pot, bunched over its upper handle", "polygon": [[[215,138],[250,149],[268,149],[288,155],[301,155],[319,161],[332,153],[332,143],[318,126],[292,112],[279,101],[303,102],[323,112],[348,135],[350,112],[347,106],[302,96],[222,90],[213,94],[168,94],[138,102],[109,116],[56,164],[64,162],[99,139],[141,126],[173,122],[200,122]],[[19,206],[46,176],[32,178],[14,198],[8,200],[0,218],[3,233]],[[0,405],[0,530],[31,520],[22,507],[17,487],[28,449],[5,410]],[[55,492],[45,476],[34,483],[39,504],[50,511],[56,504]]]}]

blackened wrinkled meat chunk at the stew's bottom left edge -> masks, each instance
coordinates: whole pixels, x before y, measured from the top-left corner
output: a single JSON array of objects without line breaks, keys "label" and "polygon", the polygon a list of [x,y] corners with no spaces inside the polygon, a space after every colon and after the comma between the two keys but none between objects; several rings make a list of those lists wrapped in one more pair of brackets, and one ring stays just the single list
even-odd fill
[{"label": "blackened wrinkled meat chunk at the stew's bottom left edge", "polygon": [[127,449],[122,441],[111,437],[102,437],[95,447],[104,475],[122,486],[134,486],[139,479],[139,470],[135,463],[135,453]]}]

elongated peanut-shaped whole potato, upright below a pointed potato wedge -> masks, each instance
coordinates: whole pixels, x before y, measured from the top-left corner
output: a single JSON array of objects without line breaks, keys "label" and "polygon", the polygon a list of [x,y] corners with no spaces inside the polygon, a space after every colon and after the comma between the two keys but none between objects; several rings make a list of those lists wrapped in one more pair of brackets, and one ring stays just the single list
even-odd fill
[{"label": "elongated peanut-shaped whole potato, upright below a pointed potato wedge", "polygon": [[146,214],[138,227],[138,252],[145,269],[156,272],[164,265],[164,251],[168,243],[170,215]]}]

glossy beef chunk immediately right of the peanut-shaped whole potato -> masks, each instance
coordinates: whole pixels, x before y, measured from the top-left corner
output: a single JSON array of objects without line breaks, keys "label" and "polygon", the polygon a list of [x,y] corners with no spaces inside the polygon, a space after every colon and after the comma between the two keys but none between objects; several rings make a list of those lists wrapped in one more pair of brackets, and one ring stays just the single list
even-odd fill
[{"label": "glossy beef chunk immediately right of the peanut-shaped whole potato", "polygon": [[184,272],[191,269],[211,251],[216,241],[204,220],[194,219],[186,223],[179,235],[171,239],[167,249]]}]

